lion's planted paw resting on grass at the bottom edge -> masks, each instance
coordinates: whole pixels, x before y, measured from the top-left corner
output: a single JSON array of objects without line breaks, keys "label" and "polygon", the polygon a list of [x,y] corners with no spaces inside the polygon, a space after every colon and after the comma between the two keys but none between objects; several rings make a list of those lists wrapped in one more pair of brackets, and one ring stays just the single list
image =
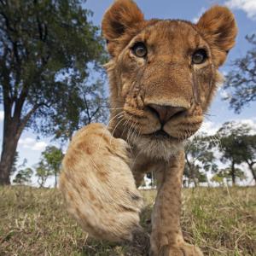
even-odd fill
[{"label": "lion's planted paw resting on grass at the bottom edge", "polygon": [[203,256],[201,249],[188,243],[162,247],[158,256]]}]

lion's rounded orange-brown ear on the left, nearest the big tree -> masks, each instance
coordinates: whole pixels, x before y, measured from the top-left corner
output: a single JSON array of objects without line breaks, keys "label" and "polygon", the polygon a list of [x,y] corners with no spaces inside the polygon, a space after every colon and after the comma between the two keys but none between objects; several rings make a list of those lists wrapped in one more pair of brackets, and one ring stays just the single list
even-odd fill
[{"label": "lion's rounded orange-brown ear on the left, nearest the big tree", "polygon": [[132,36],[144,20],[143,13],[132,0],[116,0],[107,10],[102,20],[102,34],[108,42],[108,51],[114,55],[119,38]]}]

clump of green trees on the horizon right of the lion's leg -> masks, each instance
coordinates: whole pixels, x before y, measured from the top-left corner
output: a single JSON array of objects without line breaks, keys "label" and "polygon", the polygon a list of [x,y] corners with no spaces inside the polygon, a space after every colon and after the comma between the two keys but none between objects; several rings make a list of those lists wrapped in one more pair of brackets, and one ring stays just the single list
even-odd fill
[{"label": "clump of green trees on the horizon right of the lion's leg", "polygon": [[[231,121],[224,123],[213,137],[201,133],[190,140],[185,157],[184,176],[195,186],[207,181],[207,172],[213,174],[211,181],[219,184],[247,179],[241,164],[252,172],[256,184],[256,134],[250,125]],[[225,167],[219,167],[220,162]]]}]

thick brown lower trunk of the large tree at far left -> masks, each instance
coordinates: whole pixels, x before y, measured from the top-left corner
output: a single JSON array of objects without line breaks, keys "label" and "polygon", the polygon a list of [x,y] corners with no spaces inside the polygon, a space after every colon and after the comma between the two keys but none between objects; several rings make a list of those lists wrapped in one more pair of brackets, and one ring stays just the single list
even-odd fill
[{"label": "thick brown lower trunk of the large tree at far left", "polygon": [[0,185],[10,184],[10,172],[15,160],[15,152],[20,138],[17,125],[14,122],[4,120],[3,148],[0,161]]}]

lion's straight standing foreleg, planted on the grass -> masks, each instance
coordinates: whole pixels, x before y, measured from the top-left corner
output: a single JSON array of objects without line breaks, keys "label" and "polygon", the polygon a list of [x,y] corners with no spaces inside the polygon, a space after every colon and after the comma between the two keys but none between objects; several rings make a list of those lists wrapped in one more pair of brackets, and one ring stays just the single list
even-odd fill
[{"label": "lion's straight standing foreleg, planted on the grass", "polygon": [[180,225],[183,152],[156,172],[158,193],[152,213],[151,255],[202,255],[198,247],[183,240]]}]

